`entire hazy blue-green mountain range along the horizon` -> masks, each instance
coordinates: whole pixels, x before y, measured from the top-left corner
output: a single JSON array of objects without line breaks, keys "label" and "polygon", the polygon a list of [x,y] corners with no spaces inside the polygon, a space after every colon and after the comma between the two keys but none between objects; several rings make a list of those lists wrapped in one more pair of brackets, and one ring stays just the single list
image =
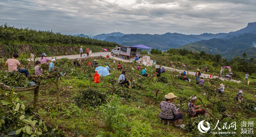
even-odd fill
[{"label": "entire hazy blue-green mountain range along the horizon", "polygon": [[[248,23],[245,28],[229,33],[203,33],[200,35],[165,33],[165,34],[123,34],[114,32],[110,34],[99,34],[92,36],[98,40],[116,42],[120,45],[133,46],[144,44],[157,49],[167,50],[169,48],[188,49],[193,52],[204,50],[211,54],[220,54],[228,59],[242,52],[248,53],[248,57],[255,57],[256,48],[256,22]],[[89,37],[84,34],[74,36]]]}]

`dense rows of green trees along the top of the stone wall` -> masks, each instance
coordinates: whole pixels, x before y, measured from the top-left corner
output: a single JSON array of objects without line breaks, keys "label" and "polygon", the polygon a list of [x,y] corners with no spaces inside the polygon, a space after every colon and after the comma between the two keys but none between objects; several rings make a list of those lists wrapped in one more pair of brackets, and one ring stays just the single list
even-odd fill
[{"label": "dense rows of green trees along the top of the stone wall", "polygon": [[102,47],[114,47],[115,42],[96,40],[89,37],[76,37],[63,35],[53,31],[37,31],[30,28],[15,28],[7,24],[0,26],[0,42],[3,44],[15,43],[36,43],[36,44],[55,44],[55,45],[94,45]]}]

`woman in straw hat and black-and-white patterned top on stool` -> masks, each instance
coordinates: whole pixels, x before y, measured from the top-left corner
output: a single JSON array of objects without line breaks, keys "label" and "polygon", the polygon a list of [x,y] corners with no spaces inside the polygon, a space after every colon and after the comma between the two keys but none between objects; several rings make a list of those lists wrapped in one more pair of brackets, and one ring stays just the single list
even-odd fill
[{"label": "woman in straw hat and black-and-white patterned top on stool", "polygon": [[175,127],[180,127],[180,121],[183,119],[183,115],[179,113],[176,109],[176,106],[171,103],[174,101],[174,98],[177,97],[173,93],[169,93],[165,95],[165,101],[160,103],[160,113],[159,117],[162,120],[166,121],[176,121]]}]

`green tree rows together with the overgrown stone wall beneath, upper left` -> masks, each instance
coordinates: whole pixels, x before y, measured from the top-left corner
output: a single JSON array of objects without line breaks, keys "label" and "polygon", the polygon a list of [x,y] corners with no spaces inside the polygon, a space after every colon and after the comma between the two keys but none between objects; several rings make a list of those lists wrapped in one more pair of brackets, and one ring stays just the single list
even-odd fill
[{"label": "green tree rows together with the overgrown stone wall beneath, upper left", "polygon": [[63,35],[59,32],[0,25],[0,50],[5,53],[0,57],[10,58],[13,53],[19,52],[32,52],[38,57],[43,52],[48,56],[79,54],[80,46],[89,47],[92,52],[100,52],[102,48],[109,50],[116,45],[115,42]]}]

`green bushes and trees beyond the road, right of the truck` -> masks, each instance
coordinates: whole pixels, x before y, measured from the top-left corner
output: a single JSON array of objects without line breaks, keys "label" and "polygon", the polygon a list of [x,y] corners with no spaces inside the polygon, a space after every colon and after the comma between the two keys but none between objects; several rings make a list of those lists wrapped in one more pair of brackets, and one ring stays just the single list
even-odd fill
[{"label": "green bushes and trees beyond the road, right of the truck", "polygon": [[[178,69],[183,68],[183,65],[179,66],[178,62],[186,64],[186,68],[189,71],[194,71],[201,67],[201,72],[204,71],[204,68],[208,68],[208,73],[212,75],[218,75],[220,73],[220,67],[230,66],[232,73],[234,74],[232,78],[238,80],[244,80],[245,73],[249,73],[252,79],[255,79],[256,75],[256,61],[254,58],[248,58],[247,53],[240,56],[232,58],[228,61],[226,58],[222,58],[221,55],[212,55],[207,54],[204,51],[192,52],[186,49],[170,49],[166,53],[162,54],[152,54],[150,55],[152,60],[156,60],[156,63],[159,65],[170,67],[170,62],[173,62],[173,66]],[[228,70],[225,70],[225,73],[229,73]]]}]

